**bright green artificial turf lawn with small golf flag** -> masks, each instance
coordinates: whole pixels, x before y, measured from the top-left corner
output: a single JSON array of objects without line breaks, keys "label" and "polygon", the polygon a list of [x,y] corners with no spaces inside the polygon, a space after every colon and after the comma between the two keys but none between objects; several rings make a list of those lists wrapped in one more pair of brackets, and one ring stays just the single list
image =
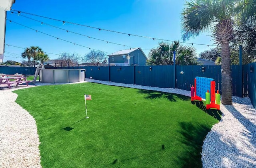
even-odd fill
[{"label": "bright green artificial turf lawn with small golf flag", "polygon": [[202,167],[203,140],[220,119],[190,97],[97,83],[14,93],[36,119],[44,168]]}]

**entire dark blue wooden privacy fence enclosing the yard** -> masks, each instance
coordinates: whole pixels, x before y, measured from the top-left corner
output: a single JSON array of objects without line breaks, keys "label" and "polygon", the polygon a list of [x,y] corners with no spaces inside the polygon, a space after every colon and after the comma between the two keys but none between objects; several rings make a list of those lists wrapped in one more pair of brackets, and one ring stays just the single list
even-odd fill
[{"label": "entire dark blue wooden privacy fence enclosing the yard", "polygon": [[[117,83],[136,84],[162,88],[178,88],[190,91],[196,76],[215,80],[216,90],[221,89],[220,65],[174,65],[158,66],[108,66],[108,67],[52,67],[68,69],[86,69],[86,78]],[[253,68],[253,70],[252,70]],[[256,62],[248,65],[231,66],[232,95],[250,97],[256,107]],[[35,67],[0,67],[0,73],[34,75]],[[241,70],[242,69],[242,72]],[[183,72],[183,73],[181,73]],[[175,74],[175,75],[174,75]],[[174,82],[175,81],[175,82]]]}]

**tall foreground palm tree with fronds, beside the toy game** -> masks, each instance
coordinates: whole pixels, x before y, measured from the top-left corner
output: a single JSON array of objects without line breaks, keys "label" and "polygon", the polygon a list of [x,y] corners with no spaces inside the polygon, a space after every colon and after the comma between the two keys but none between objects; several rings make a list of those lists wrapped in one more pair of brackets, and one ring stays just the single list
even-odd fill
[{"label": "tall foreground palm tree with fronds, beside the toy game", "polygon": [[192,0],[182,12],[183,39],[212,31],[221,45],[222,103],[232,105],[230,48],[233,22],[248,20],[256,15],[256,0]]}]

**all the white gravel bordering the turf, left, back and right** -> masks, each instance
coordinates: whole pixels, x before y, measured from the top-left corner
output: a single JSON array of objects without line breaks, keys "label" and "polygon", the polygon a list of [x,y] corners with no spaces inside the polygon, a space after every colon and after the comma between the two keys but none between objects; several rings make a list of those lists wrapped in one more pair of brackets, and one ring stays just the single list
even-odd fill
[{"label": "all the white gravel bordering the turf, left, back and right", "polygon": [[[190,96],[190,91],[181,89],[147,87],[94,79],[86,79],[83,82]],[[52,84],[36,83],[35,85]],[[20,88],[2,90],[0,87],[0,167],[41,167],[36,122],[26,110],[15,103],[17,95],[12,91],[16,89]],[[256,168],[256,109],[252,107],[247,97],[232,97],[232,99],[233,106],[220,106],[223,113],[222,120],[212,127],[204,140],[202,146],[204,168]]]}]

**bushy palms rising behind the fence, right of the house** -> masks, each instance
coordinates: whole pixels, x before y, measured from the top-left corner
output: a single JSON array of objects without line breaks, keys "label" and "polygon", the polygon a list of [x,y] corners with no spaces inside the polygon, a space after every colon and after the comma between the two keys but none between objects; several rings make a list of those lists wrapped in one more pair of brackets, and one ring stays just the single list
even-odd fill
[{"label": "bushy palms rising behind the fence, right of the house", "polygon": [[158,47],[149,51],[148,65],[173,65],[173,52],[176,51],[176,65],[196,65],[196,50],[179,42],[159,42]]}]

